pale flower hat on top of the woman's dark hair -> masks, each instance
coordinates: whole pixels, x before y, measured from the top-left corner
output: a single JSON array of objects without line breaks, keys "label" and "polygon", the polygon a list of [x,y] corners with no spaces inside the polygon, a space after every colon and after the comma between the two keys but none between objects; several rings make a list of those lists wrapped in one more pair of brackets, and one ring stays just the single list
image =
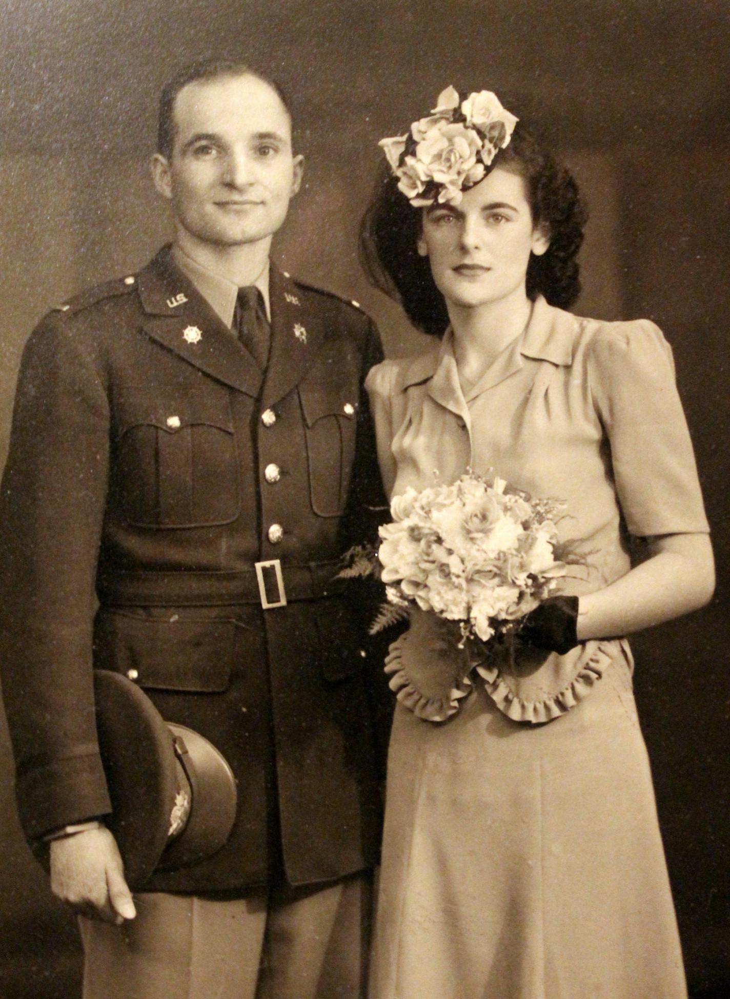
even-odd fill
[{"label": "pale flower hat on top of the woman's dark hair", "polygon": [[400,178],[398,190],[414,208],[458,205],[509,145],[517,122],[491,90],[475,91],[462,101],[454,87],[447,87],[430,115],[413,122],[406,135],[381,139],[378,145]]}]

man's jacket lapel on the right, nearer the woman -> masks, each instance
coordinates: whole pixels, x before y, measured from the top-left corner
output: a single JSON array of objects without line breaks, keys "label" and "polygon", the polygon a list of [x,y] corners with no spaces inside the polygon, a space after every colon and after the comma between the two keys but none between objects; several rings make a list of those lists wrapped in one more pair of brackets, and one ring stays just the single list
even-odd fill
[{"label": "man's jacket lapel on the right, nearer the woman", "polygon": [[275,267],[269,277],[271,355],[266,370],[262,406],[267,409],[287,396],[312,366],[325,334],[322,316],[307,308],[297,286]]}]

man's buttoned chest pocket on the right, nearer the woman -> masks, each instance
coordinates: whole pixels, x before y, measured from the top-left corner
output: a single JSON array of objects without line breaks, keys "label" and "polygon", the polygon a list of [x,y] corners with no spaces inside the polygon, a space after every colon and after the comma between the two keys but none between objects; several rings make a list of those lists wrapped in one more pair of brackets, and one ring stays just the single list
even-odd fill
[{"label": "man's buttoned chest pocket on the right, nearer the woman", "polygon": [[309,467],[309,496],[318,516],[345,508],[355,458],[358,397],[347,386],[299,387]]}]

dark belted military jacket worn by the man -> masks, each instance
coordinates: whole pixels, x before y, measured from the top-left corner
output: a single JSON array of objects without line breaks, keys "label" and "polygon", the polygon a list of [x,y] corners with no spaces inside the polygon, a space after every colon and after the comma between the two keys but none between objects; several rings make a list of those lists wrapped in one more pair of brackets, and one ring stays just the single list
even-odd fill
[{"label": "dark belted military jacket worn by the man", "polygon": [[[238,781],[226,846],[154,890],[262,885],[279,850],[293,884],[377,858],[380,666],[331,580],[384,503],[363,391],[381,350],[335,296],[274,268],[270,294],[266,375],[169,249],[50,313],[21,364],[0,511],[21,820],[36,838],[110,812],[92,667],[125,673]],[[289,602],[264,610],[269,559]]]}]

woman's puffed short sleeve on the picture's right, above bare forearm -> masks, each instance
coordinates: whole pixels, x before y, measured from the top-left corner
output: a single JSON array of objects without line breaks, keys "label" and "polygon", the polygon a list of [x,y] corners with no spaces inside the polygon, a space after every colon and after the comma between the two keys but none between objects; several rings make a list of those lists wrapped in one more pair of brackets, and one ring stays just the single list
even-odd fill
[{"label": "woman's puffed short sleeve on the picture's right, above bare forearm", "polygon": [[661,331],[648,320],[604,327],[593,338],[587,364],[629,531],[707,531],[672,351]]}]

